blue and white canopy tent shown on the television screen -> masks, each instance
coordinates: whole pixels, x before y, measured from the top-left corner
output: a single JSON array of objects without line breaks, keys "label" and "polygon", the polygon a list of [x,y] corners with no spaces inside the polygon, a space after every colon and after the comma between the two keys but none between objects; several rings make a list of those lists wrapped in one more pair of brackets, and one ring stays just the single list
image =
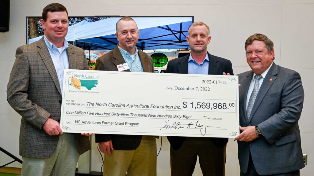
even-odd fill
[{"label": "blue and white canopy tent shown on the television screen", "polygon": [[[112,50],[118,44],[115,37],[116,22],[122,17],[110,17],[92,23],[69,26],[66,39],[85,50]],[[145,49],[189,48],[186,36],[193,17],[132,17],[139,29],[136,44]],[[41,38],[41,37],[37,37]],[[32,43],[38,39],[29,39]]]}]

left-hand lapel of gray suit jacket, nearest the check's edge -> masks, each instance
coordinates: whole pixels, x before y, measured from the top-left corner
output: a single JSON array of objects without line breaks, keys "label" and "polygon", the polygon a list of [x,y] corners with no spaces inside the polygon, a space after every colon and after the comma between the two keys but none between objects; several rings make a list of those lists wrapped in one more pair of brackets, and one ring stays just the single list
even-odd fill
[{"label": "left-hand lapel of gray suit jacket, nearest the check's edge", "polygon": [[[250,86],[250,83],[251,83],[251,80],[252,80],[252,77],[253,77],[253,71],[250,71],[245,79],[241,82],[241,87],[240,87],[240,95],[239,97],[242,97],[240,100],[240,107],[242,107],[242,113],[243,113],[243,116],[245,117],[245,121],[248,123],[248,120],[247,120],[247,115],[246,115],[246,97],[247,97],[247,91],[249,90],[249,86]],[[242,89],[246,87],[246,89]]]}]

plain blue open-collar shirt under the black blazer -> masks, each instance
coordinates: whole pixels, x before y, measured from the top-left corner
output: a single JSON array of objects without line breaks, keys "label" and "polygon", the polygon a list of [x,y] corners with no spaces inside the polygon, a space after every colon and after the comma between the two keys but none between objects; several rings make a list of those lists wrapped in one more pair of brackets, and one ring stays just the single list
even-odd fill
[{"label": "plain blue open-collar shirt under the black blazer", "polygon": [[209,67],[208,53],[206,53],[205,59],[200,65],[198,65],[196,60],[192,58],[192,54],[190,54],[187,67],[189,74],[208,75]]}]

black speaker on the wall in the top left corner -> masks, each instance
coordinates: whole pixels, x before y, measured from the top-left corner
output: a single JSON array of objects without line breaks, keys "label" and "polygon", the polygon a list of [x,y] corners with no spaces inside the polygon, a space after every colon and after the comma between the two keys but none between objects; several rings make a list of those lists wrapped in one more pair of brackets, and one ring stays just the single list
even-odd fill
[{"label": "black speaker on the wall in the top left corner", "polygon": [[0,0],[0,32],[9,31],[10,0]]}]

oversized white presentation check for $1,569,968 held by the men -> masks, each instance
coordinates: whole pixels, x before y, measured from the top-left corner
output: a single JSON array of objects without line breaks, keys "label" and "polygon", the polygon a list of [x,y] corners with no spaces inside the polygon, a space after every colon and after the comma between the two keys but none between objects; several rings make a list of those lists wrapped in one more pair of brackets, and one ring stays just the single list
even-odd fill
[{"label": "oversized white presentation check for $1,569,968 held by the men", "polygon": [[238,77],[65,70],[63,132],[235,137]]}]

